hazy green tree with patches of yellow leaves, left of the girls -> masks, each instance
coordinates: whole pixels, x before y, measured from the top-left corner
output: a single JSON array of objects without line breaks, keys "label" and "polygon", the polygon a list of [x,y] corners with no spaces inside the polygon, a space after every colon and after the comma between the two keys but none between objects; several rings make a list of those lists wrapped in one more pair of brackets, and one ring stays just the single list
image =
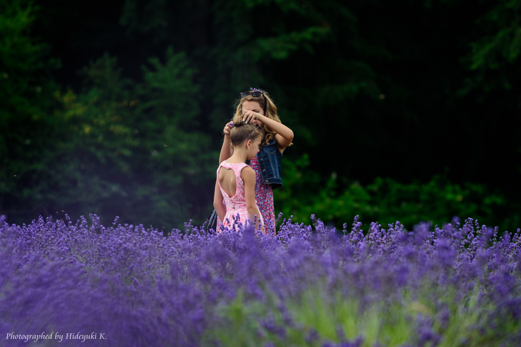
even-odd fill
[{"label": "hazy green tree with patches of yellow leaves, left of the girls", "polygon": [[121,77],[116,59],[107,54],[82,75],[80,94],[56,94],[62,106],[51,170],[58,179],[47,199],[55,210],[73,217],[95,213],[114,219],[128,205],[130,164],[139,146],[133,133],[138,101],[132,98],[131,81]]}]

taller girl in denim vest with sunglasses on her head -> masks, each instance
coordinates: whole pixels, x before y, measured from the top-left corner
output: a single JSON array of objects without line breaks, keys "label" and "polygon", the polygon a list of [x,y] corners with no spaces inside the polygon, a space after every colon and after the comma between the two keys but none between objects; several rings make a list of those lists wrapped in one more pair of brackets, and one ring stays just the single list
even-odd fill
[{"label": "taller girl in denim vest with sunglasses on her head", "polygon": [[283,125],[277,114],[277,106],[263,90],[250,88],[250,91],[240,93],[237,110],[223,132],[219,163],[233,154],[230,131],[239,123],[256,124],[263,130],[259,153],[250,162],[255,170],[255,200],[264,218],[267,231],[275,232],[275,208],[273,190],[282,185],[280,160],[282,153],[293,140],[293,131]]}]

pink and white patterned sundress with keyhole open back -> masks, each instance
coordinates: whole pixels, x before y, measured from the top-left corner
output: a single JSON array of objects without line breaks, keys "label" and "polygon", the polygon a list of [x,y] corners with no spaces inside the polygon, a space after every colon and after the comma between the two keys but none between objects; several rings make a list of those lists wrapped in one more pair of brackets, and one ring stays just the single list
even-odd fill
[{"label": "pink and white patterned sundress with keyhole open back", "polygon": [[[237,218],[237,215],[239,215],[240,222],[242,223],[242,225],[245,225],[246,222],[251,222],[250,215],[248,214],[248,210],[246,208],[244,181],[241,178],[241,171],[246,166],[248,165],[246,165],[245,163],[230,164],[227,163],[225,160],[217,168],[217,183],[219,184],[222,197],[224,197],[224,205],[226,207],[225,220],[222,221],[222,226],[224,227],[232,227],[234,218]],[[233,172],[235,172],[235,186],[237,188],[235,189],[235,195],[233,195],[232,197],[228,196],[225,190],[222,189],[221,184],[219,182],[219,170],[221,169],[221,167],[224,167],[225,169],[231,169],[233,170]],[[257,221],[260,221],[262,225],[264,225],[262,214],[261,216],[257,216],[257,218]]]}]

